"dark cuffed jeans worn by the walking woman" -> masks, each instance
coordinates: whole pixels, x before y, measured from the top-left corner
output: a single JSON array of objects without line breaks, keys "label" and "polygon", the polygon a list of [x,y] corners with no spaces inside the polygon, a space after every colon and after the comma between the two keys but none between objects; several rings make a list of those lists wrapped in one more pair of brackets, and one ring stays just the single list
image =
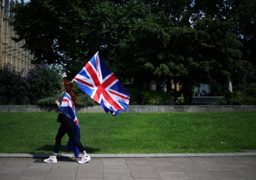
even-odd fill
[{"label": "dark cuffed jeans worn by the walking woman", "polygon": [[72,121],[72,119],[68,118],[67,116],[62,116],[63,121],[61,123],[61,126],[58,130],[58,133],[56,135],[55,139],[55,147],[54,151],[55,153],[58,153],[61,148],[61,139],[62,137],[67,133],[67,135],[70,137],[70,139],[74,142],[76,147],[79,149],[80,152],[84,152],[85,149],[82,145],[82,143],[77,140],[76,134],[75,134],[75,122]]}]

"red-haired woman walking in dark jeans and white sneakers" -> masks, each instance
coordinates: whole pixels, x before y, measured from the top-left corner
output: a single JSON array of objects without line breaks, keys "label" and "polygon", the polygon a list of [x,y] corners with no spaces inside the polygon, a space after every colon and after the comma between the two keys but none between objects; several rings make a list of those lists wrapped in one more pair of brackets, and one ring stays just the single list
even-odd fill
[{"label": "red-haired woman walking in dark jeans and white sneakers", "polygon": [[65,93],[64,97],[62,100],[61,98],[58,98],[55,101],[61,112],[61,125],[56,135],[53,155],[48,159],[45,159],[44,162],[57,163],[56,157],[61,148],[61,139],[67,133],[74,145],[83,153],[81,161],[78,161],[79,164],[83,164],[88,162],[91,158],[86,153],[82,143],[76,137],[75,128],[78,125],[78,120],[76,118],[75,105],[77,103],[77,99],[73,92],[72,82],[70,80],[64,80],[61,84],[61,90]]}]

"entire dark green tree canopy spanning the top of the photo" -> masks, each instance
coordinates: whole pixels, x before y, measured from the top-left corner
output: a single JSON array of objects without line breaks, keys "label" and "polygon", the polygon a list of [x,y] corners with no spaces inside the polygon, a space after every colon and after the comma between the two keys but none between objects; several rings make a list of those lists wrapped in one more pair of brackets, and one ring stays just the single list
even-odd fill
[{"label": "entire dark green tree canopy spanning the top of the photo", "polygon": [[[184,88],[244,82],[255,65],[256,1],[16,1],[16,41],[74,77],[96,51],[122,82]],[[178,92],[176,92],[178,93]]]}]

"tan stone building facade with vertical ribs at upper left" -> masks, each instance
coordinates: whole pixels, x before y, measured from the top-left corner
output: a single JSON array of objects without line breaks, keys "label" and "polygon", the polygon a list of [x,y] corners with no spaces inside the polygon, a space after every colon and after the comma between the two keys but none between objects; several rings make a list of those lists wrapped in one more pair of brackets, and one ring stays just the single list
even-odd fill
[{"label": "tan stone building facade with vertical ribs at upper left", "polygon": [[24,45],[24,40],[18,43],[12,40],[12,37],[17,37],[13,26],[9,23],[15,16],[14,12],[10,11],[13,6],[13,0],[0,0],[0,64],[10,63],[17,71],[24,70],[24,73],[26,73],[34,67],[31,64],[33,55],[21,48]]}]

